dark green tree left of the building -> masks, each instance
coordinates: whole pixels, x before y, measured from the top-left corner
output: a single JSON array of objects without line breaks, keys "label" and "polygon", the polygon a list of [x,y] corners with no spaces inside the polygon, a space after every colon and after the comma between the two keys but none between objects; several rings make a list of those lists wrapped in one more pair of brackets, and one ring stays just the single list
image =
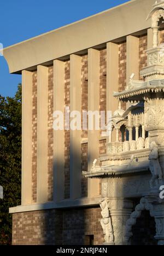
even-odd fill
[{"label": "dark green tree left of the building", "polygon": [[21,84],[14,98],[0,95],[0,245],[11,244],[9,207],[21,203]]}]

